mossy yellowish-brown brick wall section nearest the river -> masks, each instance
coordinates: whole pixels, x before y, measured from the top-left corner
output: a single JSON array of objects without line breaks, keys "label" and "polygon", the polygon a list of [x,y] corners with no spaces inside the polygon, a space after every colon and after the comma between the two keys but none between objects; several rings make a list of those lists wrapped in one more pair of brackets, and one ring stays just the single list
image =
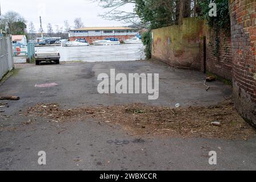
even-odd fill
[{"label": "mossy yellowish-brown brick wall section nearest the river", "polygon": [[202,70],[204,21],[184,18],[180,26],[152,30],[152,59],[176,68]]}]

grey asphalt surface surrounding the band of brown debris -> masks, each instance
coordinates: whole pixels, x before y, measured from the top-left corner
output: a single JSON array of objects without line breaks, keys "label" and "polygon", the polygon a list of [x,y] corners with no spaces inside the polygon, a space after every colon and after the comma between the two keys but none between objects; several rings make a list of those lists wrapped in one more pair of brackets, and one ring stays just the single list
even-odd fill
[{"label": "grey asphalt surface surrounding the band of brown debris", "polygon": [[[64,108],[82,105],[142,103],[174,107],[212,105],[229,97],[230,86],[215,81],[207,92],[205,75],[168,67],[158,61],[19,65],[0,93],[19,96],[0,108],[0,125],[16,131],[0,131],[1,170],[255,170],[256,138],[224,140],[204,138],[143,138],[139,141],[119,126],[94,119],[54,123],[45,118],[23,126],[28,107],[58,103]],[[159,73],[159,99],[145,94],[98,94],[97,76],[115,68],[117,73]],[[36,84],[56,82],[51,88]],[[2,103],[5,103],[1,101]],[[38,152],[46,152],[46,166],[38,164]],[[217,152],[217,165],[209,165],[209,151]]]}]

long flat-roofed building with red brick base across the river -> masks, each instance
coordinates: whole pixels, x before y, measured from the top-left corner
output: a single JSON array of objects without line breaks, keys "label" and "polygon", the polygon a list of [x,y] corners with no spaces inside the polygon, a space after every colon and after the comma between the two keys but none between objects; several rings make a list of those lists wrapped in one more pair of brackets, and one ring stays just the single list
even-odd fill
[{"label": "long flat-roofed building with red brick base across the river", "polygon": [[104,40],[106,38],[117,38],[118,40],[126,40],[140,34],[140,29],[129,27],[85,27],[76,30],[69,30],[69,40],[86,39],[92,43],[96,40]]}]

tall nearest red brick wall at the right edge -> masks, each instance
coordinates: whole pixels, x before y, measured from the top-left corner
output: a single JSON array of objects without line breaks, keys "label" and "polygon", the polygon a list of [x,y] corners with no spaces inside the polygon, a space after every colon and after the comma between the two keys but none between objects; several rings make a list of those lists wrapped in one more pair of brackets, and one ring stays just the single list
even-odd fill
[{"label": "tall nearest red brick wall at the right edge", "polygon": [[229,0],[233,96],[238,111],[256,126],[256,1]]}]

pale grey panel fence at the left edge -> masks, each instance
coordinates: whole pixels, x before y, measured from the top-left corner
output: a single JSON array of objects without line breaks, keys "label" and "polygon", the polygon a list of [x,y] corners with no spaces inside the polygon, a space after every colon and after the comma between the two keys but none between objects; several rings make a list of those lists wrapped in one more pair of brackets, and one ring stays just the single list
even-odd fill
[{"label": "pale grey panel fence at the left edge", "polygon": [[0,80],[14,67],[10,36],[0,36]]}]

